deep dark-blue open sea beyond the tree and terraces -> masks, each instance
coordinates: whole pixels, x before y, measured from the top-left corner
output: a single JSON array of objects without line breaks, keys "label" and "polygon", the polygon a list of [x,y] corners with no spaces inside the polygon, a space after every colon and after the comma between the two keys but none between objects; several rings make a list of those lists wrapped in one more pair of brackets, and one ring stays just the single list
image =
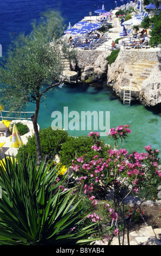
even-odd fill
[{"label": "deep dark-blue open sea beyond the tree and terraces", "polygon": [[[127,3],[126,0],[123,2],[117,0],[116,2],[117,6]],[[115,1],[110,0],[104,2],[101,0],[1,0],[0,3],[0,44],[2,45],[3,54],[7,51],[11,38],[20,32],[29,33],[32,29],[32,21],[39,19],[40,13],[46,9],[59,10],[66,19],[66,26],[69,22],[73,26],[84,16],[89,16],[89,11],[92,11],[92,15],[95,15],[94,11],[102,9],[102,4],[104,4],[107,11],[116,6]]]}]

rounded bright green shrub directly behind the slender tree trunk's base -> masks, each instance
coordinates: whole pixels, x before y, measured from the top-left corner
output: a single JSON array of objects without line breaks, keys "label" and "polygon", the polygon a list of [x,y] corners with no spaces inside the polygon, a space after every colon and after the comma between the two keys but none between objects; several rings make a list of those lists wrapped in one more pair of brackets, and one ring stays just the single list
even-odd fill
[{"label": "rounded bright green shrub directly behind the slender tree trunk's base", "polygon": [[[42,156],[49,155],[51,159],[57,155],[61,149],[61,145],[66,142],[69,136],[67,131],[64,130],[52,130],[52,127],[47,127],[39,132]],[[36,141],[35,136],[29,136],[26,145],[22,145],[18,149],[18,154],[23,154],[27,159],[28,155],[36,155]]]}]

